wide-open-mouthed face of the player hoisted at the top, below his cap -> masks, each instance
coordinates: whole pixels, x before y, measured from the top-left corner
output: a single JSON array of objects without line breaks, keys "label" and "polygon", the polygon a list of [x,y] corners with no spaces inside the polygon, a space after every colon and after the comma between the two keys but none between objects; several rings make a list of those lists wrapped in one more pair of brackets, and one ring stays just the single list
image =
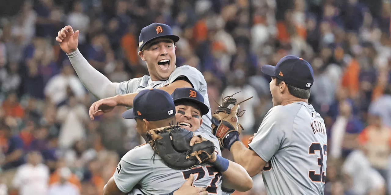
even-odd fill
[{"label": "wide-open-mouthed face of the player hoisted at the top, below his cap", "polygon": [[167,80],[175,69],[176,46],[171,39],[159,38],[148,43],[139,51],[141,59],[147,63],[149,75],[153,81]]}]

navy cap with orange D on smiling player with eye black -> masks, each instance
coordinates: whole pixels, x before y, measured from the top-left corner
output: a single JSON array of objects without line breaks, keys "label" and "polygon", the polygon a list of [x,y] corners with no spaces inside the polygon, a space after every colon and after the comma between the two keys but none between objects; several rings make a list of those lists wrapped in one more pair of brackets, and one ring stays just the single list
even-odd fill
[{"label": "navy cap with orange D on smiling player with eye black", "polygon": [[195,89],[190,87],[177,88],[171,94],[174,103],[192,102],[201,109],[201,115],[209,112],[208,106],[204,104],[204,97]]}]

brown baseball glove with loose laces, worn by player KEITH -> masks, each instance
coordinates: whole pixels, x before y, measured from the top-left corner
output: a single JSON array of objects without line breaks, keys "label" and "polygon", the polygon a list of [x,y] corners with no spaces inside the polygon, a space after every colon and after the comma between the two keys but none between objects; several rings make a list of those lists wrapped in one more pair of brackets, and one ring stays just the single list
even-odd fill
[{"label": "brown baseball glove with loose laces, worn by player KEITH", "polygon": [[[239,140],[239,135],[244,130],[238,123],[239,117],[244,114],[244,110],[240,111],[240,104],[253,98],[250,97],[238,103],[237,99],[232,98],[233,95],[224,97],[222,104],[212,115],[212,133],[219,139],[220,147],[225,149],[230,149],[233,142]],[[232,108],[228,108],[230,105],[233,105]]]}]

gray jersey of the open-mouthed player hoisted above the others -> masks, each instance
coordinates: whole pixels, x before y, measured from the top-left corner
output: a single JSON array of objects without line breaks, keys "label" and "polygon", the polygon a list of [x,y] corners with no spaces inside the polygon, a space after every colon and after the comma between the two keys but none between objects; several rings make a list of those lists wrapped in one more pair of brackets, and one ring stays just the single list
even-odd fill
[{"label": "gray jersey of the open-mouthed player hoisted above the others", "polygon": [[193,88],[200,92],[200,94],[204,97],[204,104],[208,106],[209,112],[202,116],[203,122],[201,128],[212,132],[212,115],[210,112],[206,81],[201,72],[195,67],[189,65],[177,67],[166,81],[152,81],[150,76],[144,75],[140,78],[133,78],[129,81],[121,82],[117,87],[117,94],[122,95],[139,92],[140,90],[144,89],[163,87],[182,77],[186,77],[193,85]]}]

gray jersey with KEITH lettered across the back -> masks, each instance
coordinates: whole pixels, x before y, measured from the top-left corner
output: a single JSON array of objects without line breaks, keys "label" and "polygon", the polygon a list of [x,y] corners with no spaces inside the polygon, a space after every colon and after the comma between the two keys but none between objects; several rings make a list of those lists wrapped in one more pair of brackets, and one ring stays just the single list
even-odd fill
[{"label": "gray jersey with KEITH lettered across the back", "polygon": [[249,148],[268,162],[262,171],[268,195],[324,194],[327,135],[312,105],[271,108]]}]

